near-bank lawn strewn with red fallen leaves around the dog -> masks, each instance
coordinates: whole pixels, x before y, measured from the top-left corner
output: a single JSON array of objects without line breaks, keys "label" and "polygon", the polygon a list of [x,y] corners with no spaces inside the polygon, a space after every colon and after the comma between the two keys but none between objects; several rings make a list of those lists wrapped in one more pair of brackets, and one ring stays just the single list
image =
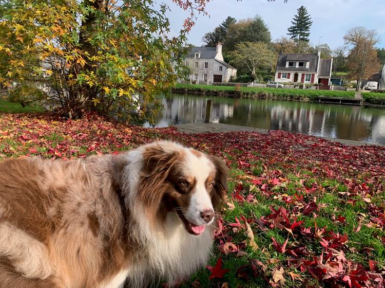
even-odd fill
[{"label": "near-bank lawn strewn with red fallen leaves around the dog", "polygon": [[[306,267],[302,266],[301,270],[296,266],[303,260],[326,257],[326,249],[320,242],[321,238],[328,237],[328,231],[348,236],[346,243],[335,248],[352,264],[342,263],[341,279],[350,275],[357,264],[367,272],[369,261],[376,261],[380,271],[385,268],[385,224],[380,222],[385,223],[381,210],[385,206],[385,167],[380,165],[385,159],[384,148],[344,146],[283,131],[184,134],[175,128],[145,129],[107,121],[97,115],[71,121],[45,114],[0,115],[0,159],[24,155],[63,159],[86,157],[127,151],[156,139],[176,140],[202,152],[216,154],[225,158],[230,168],[227,203],[222,210],[223,231],[207,263],[215,266],[222,257],[222,268],[229,272],[224,278],[209,279],[210,271],[202,267],[181,285],[182,288],[191,287],[196,280],[199,287],[207,288],[268,287],[269,281],[273,281],[272,274],[279,267],[284,268],[285,282],[270,282],[277,287],[330,287],[328,278],[318,282]],[[297,149],[298,146],[301,149]],[[304,213],[311,203],[317,207]],[[269,218],[273,210],[279,208],[284,209],[284,215]],[[373,214],[373,209],[379,212]],[[284,223],[285,217],[290,225],[295,220],[303,223],[288,231],[287,227],[276,225]],[[236,218],[242,227],[231,226]],[[257,249],[249,245],[244,219],[252,228],[251,237]],[[266,219],[267,224],[263,222]],[[303,235],[300,228],[309,228],[310,235]],[[272,237],[280,245],[287,239],[286,248],[303,247],[309,254],[295,258],[280,253]],[[225,255],[220,248],[224,242],[234,243],[246,255]],[[265,266],[259,274],[254,274],[253,260]],[[242,273],[242,269],[246,272]],[[300,277],[293,279],[290,273]],[[339,284],[349,286],[343,282]]]}]

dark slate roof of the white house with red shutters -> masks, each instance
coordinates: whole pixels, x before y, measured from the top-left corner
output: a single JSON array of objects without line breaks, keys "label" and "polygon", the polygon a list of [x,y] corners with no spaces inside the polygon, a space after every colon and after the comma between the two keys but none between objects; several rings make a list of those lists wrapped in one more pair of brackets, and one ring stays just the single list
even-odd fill
[{"label": "dark slate roof of the white house with red shutters", "polygon": [[[286,67],[286,61],[309,61],[309,68],[306,67]],[[277,61],[277,70],[281,71],[317,71],[318,54],[307,53],[281,53]]]}]

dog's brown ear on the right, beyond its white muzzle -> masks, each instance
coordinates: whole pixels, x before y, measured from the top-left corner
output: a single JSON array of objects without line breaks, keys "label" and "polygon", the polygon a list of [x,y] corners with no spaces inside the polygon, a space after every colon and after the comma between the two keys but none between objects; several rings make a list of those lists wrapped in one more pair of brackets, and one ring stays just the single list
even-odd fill
[{"label": "dog's brown ear on the right, beyond its white muzzle", "polygon": [[213,202],[214,209],[219,211],[226,198],[228,168],[221,158],[210,156],[210,159],[213,161],[216,169],[214,194],[211,202]]}]

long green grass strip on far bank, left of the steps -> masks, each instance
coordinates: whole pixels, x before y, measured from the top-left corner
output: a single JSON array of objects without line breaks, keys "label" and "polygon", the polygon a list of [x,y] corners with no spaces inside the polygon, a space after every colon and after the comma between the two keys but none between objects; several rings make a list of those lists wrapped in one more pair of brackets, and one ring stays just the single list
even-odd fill
[{"label": "long green grass strip on far bank, left of the steps", "polygon": [[177,84],[176,89],[184,89],[185,93],[188,93],[189,91],[200,91],[202,94],[207,94],[207,92],[209,94],[215,93],[218,96],[221,96],[222,94],[225,96],[226,94],[236,94],[239,97],[250,98],[277,98],[292,100],[316,99],[318,96],[354,98],[354,92],[352,91],[324,91],[315,89],[235,87],[196,84]]}]

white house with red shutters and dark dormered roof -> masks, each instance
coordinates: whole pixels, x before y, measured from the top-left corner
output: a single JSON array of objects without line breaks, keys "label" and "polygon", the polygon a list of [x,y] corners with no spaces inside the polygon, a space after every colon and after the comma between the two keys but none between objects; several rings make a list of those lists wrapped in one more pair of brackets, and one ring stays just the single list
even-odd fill
[{"label": "white house with red shutters and dark dormered roof", "polygon": [[275,82],[315,83],[331,85],[333,58],[321,59],[321,52],[279,52]]}]

